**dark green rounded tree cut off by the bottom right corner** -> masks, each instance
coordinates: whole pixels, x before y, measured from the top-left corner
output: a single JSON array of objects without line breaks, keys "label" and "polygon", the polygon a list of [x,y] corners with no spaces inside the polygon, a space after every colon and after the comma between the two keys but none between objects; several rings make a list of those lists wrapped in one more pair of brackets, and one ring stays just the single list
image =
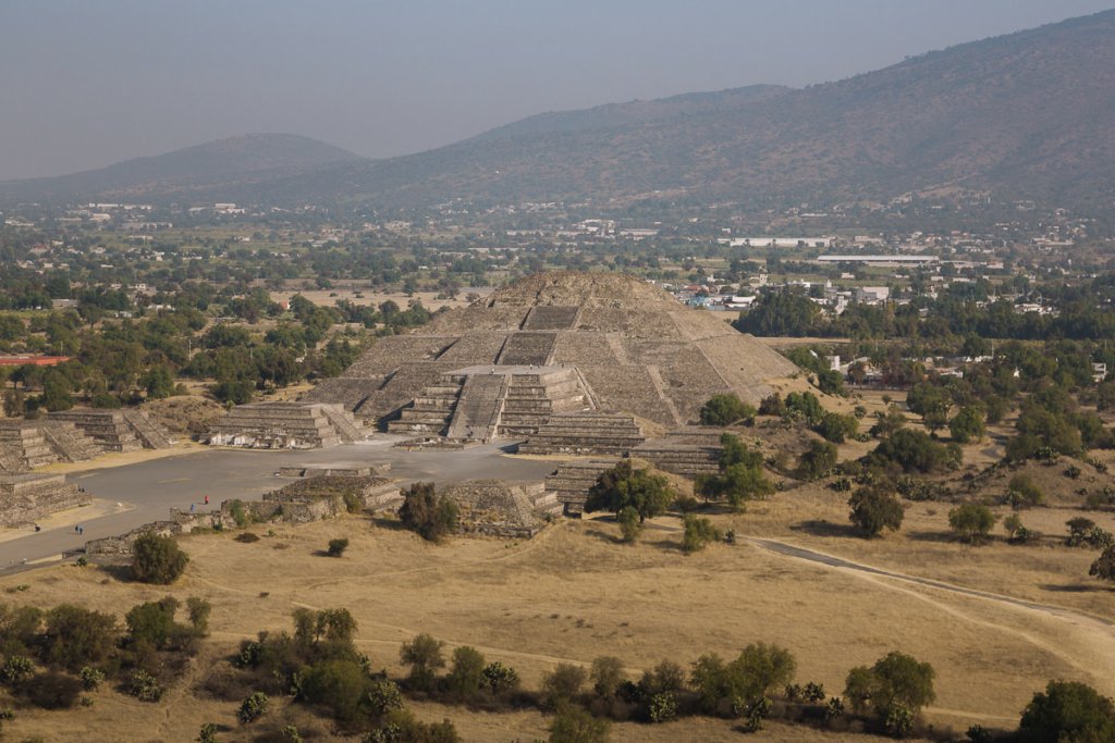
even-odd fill
[{"label": "dark green rounded tree cut off by the bottom right corner", "polygon": [[1021,743],[1115,741],[1115,703],[1087,684],[1051,681],[1022,711]]}]

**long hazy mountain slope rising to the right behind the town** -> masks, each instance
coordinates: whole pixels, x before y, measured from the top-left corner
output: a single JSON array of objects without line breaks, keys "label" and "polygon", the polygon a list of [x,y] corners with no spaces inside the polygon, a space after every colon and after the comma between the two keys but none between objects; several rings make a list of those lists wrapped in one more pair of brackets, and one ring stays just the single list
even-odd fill
[{"label": "long hazy mountain slope rising to the right behind the town", "polygon": [[[1115,11],[1106,11],[804,89],[752,86],[542,114],[416,155],[256,170],[204,193],[400,207],[455,198],[762,206],[963,186],[1111,209],[1112,59]],[[147,193],[182,190],[155,184]]]}]

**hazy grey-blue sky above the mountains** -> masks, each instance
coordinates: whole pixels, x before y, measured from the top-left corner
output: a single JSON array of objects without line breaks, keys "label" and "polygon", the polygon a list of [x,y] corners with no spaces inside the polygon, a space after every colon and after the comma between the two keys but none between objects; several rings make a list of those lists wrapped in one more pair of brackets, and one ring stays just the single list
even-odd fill
[{"label": "hazy grey-blue sky above the mountains", "polygon": [[0,0],[0,179],[250,131],[385,157],[547,110],[803,86],[1115,0]]}]

